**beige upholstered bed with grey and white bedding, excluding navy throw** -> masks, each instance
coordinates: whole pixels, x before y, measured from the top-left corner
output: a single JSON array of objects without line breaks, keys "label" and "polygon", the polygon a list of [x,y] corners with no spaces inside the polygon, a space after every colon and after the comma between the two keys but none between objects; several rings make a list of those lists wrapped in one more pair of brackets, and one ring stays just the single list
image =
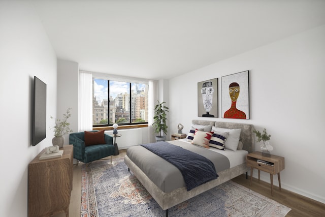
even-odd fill
[{"label": "beige upholstered bed with grey and white bedding, excluding navy throw", "polygon": [[[183,201],[208,191],[243,173],[246,173],[247,177],[249,168],[246,166],[246,155],[254,150],[255,143],[253,125],[246,123],[192,120],[192,127],[195,128],[198,126],[206,126],[207,129],[210,126],[223,129],[241,129],[240,141],[242,143],[242,150],[236,149],[233,151],[228,149],[215,150],[217,148],[204,148],[191,144],[188,142],[187,138],[168,141],[168,143],[183,148],[189,148],[189,150],[198,152],[199,154],[207,154],[208,158],[214,155],[212,152],[220,152],[229,159],[230,165],[226,166],[229,168],[223,168],[222,165],[217,165],[217,179],[203,183],[190,191],[187,191],[182,174],[175,166],[159,156],[156,156],[156,154],[141,145],[129,147],[127,149],[124,158],[125,164],[128,166],[129,170],[135,174],[159,206],[163,210],[166,210],[166,216],[168,216],[169,208]],[[211,153],[207,153],[207,151]]]}]

